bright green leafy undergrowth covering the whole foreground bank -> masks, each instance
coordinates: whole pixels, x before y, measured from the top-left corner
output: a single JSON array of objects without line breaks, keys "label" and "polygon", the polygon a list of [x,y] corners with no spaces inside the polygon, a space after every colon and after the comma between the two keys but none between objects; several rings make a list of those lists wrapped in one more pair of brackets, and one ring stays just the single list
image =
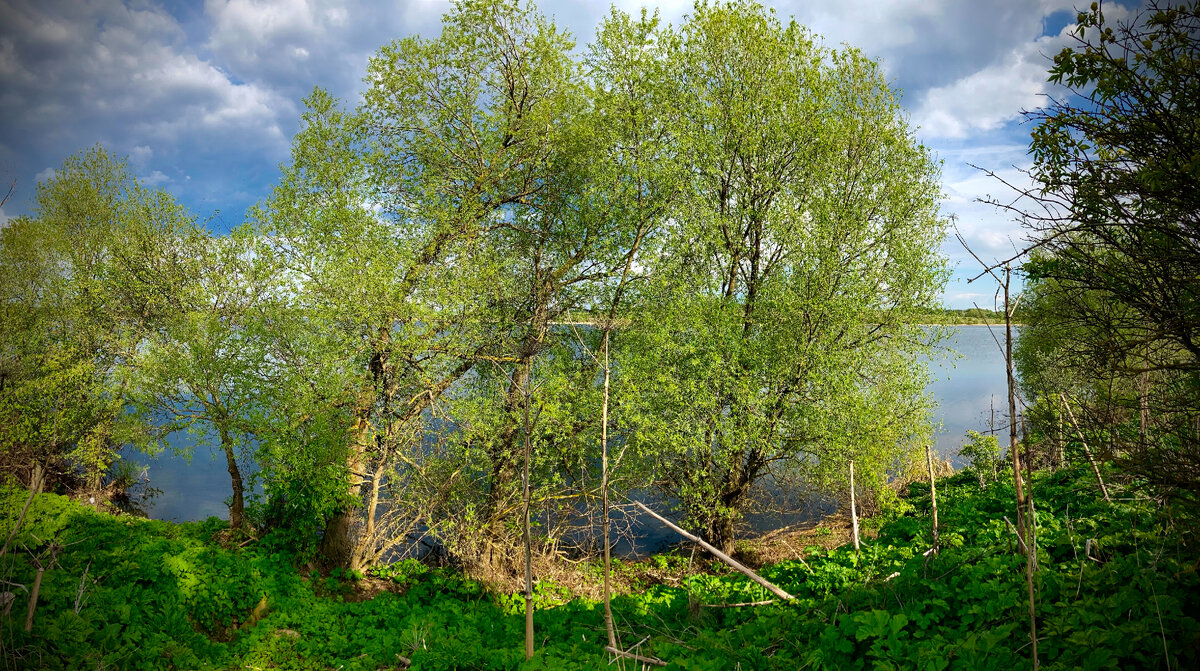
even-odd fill
[{"label": "bright green leafy undergrowth covering the whole foreground bank", "polygon": [[[1036,577],[1045,669],[1200,667],[1196,549],[1171,510],[1133,495],[1105,503],[1084,471],[1042,474]],[[929,486],[880,526],[860,553],[808,549],[762,574],[786,604],[740,575],[695,575],[613,600],[622,643],[674,669],[1027,669],[1024,559],[1013,552],[1010,485],[938,481],[942,549],[930,546]],[[6,528],[26,492],[0,490]],[[101,515],[42,495],[0,559],[31,586],[49,562],[31,633],[28,595],[0,618],[6,667],[18,669],[598,669],[602,607],[542,583],[536,654],[524,661],[523,599],[454,571],[401,562],[372,571],[397,591],[354,598],[354,574],[305,579],[264,539],[214,541],[222,525]],[[86,574],[86,576],[85,576]],[[265,604],[265,607],[263,607]],[[256,613],[257,606],[257,613]]]}]

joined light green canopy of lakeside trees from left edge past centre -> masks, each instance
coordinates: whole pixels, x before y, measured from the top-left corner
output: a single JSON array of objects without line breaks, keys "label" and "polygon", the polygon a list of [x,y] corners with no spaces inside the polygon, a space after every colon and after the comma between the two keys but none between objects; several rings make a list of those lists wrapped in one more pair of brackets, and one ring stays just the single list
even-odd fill
[{"label": "joined light green canopy of lakeside trees from left edge past centre", "polygon": [[[329,567],[426,535],[484,574],[512,570],[522,507],[545,547],[594,543],[600,481],[728,549],[764,478],[839,493],[854,460],[883,496],[928,437],[938,168],[862,53],[752,2],[613,10],[576,50],[535,7],[463,0],[366,83],[313,90],[228,236],[102,151],[68,161],[5,230],[5,307],[41,306],[5,312],[5,402],[73,385],[109,424],[211,431],[233,526]],[[103,426],[44,406],[26,443]]]}]

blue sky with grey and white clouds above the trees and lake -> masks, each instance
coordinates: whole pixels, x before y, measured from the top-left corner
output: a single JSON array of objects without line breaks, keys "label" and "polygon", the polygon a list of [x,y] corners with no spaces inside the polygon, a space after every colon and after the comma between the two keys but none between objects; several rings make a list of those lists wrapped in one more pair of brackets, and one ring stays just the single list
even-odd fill
[{"label": "blue sky with grey and white clouds above the trees and lake", "polygon": [[[691,8],[690,0],[616,2],[626,11],[643,4],[676,24]],[[944,212],[985,259],[1010,256],[1020,230],[976,202],[1004,190],[968,163],[1019,179],[1030,133],[1020,112],[1052,92],[1049,59],[1069,44],[1073,6],[1084,0],[767,4],[827,44],[848,43],[882,61],[918,138],[944,161]],[[608,6],[540,2],[581,44]],[[442,0],[0,0],[0,180],[17,182],[0,223],[29,211],[34,185],[64,157],[100,143],[128,156],[145,182],[228,229],[288,158],[300,100],[323,86],[356,101],[370,55],[402,36],[436,35],[448,7]],[[946,304],[990,307],[992,288],[965,282],[978,264],[953,236],[944,252],[958,266]]]}]

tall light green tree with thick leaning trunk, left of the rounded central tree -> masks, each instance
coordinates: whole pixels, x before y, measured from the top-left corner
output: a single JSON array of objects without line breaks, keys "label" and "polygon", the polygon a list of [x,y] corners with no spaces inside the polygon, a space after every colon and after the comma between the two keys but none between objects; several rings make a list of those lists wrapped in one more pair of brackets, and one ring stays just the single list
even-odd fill
[{"label": "tall light green tree with thick leaning trunk, left of the rounded central tree", "polygon": [[[514,310],[498,300],[514,284],[498,254],[536,223],[535,204],[557,206],[559,121],[577,104],[568,49],[532,11],[466,1],[438,38],[379,50],[359,110],[319,90],[307,101],[293,163],[257,216],[300,289],[290,318],[316,334],[289,337],[322,341],[306,365],[324,388],[293,394],[317,406],[290,414],[347,427],[342,495],[323,534],[330,564],[359,565],[403,539],[376,538],[379,496],[422,472],[427,411],[476,363],[508,352],[498,343],[514,322],[492,317]],[[532,316],[518,341],[544,329],[538,305],[515,307]],[[280,340],[280,360],[298,359],[288,349]]]}]

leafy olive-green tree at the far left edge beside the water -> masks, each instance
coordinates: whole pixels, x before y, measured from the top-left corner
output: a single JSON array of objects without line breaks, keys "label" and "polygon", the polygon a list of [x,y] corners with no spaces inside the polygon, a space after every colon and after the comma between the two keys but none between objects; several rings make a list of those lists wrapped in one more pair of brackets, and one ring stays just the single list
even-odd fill
[{"label": "leafy olive-green tree at the far left edge beside the water", "polygon": [[[96,146],[37,185],[0,234],[0,430],[10,454],[100,493],[122,445],[156,431],[128,413],[144,339],[178,312],[191,216]],[[20,465],[28,467],[28,463]]]}]

